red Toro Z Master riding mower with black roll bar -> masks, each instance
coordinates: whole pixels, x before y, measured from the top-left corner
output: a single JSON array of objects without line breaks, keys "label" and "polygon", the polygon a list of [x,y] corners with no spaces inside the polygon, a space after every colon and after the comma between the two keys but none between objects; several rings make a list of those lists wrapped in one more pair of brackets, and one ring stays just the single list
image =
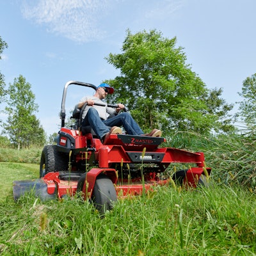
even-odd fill
[{"label": "red Toro Z Master riding mower with black roll bar", "polygon": [[[86,104],[73,112],[71,118],[76,120],[76,125],[65,127],[65,101],[71,84],[96,90],[96,86],[88,83],[69,81],[65,84],[56,145],[46,145],[42,151],[40,179],[13,182],[16,201],[29,191],[43,201],[80,192],[84,200],[91,200],[100,212],[105,212],[112,209],[119,196],[141,195],[153,186],[168,184],[170,179],[191,187],[206,184],[211,168],[205,168],[202,152],[159,147],[164,138],[127,134],[111,134],[103,145],[91,127],[81,126]],[[168,177],[164,171],[171,163],[191,167]]]}]

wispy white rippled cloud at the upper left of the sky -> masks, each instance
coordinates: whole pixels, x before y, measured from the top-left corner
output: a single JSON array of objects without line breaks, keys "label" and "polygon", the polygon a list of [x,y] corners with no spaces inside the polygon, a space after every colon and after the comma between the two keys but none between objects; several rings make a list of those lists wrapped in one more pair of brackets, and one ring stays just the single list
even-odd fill
[{"label": "wispy white rippled cloud at the upper left of the sky", "polygon": [[39,0],[23,1],[22,14],[36,24],[45,25],[51,33],[76,42],[100,40],[104,31],[98,28],[100,17],[108,9],[107,0]]}]

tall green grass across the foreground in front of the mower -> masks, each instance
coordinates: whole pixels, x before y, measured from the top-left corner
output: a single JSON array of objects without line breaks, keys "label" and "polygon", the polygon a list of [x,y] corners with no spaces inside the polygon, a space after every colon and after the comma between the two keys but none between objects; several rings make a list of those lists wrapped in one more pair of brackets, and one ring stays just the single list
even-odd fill
[{"label": "tall green grass across the foreground in front of the mower", "polygon": [[255,255],[255,195],[240,186],[157,187],[100,218],[89,202],[0,204],[1,255]]}]

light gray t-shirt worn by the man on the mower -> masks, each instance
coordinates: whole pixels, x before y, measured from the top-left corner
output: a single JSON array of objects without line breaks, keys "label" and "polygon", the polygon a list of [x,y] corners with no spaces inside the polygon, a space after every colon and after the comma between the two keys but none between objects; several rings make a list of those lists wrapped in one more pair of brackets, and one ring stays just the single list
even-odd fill
[{"label": "light gray t-shirt worn by the man on the mower", "polygon": [[82,119],[84,119],[84,117],[86,116],[89,108],[95,108],[98,111],[100,118],[102,118],[103,120],[107,120],[109,115],[116,114],[116,109],[109,108],[106,102],[100,100],[97,97],[85,96],[80,100],[80,102],[85,102],[86,100],[93,100],[95,103],[104,104],[104,106],[97,106],[95,104],[93,106],[86,106],[82,115]]}]

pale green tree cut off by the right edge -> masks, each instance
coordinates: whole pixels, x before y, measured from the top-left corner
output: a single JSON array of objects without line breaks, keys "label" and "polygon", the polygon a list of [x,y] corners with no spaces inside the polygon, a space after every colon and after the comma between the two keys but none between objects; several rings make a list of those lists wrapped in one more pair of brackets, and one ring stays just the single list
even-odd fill
[{"label": "pale green tree cut off by the right edge", "polygon": [[242,92],[239,95],[243,98],[239,102],[237,118],[245,122],[249,129],[256,129],[256,74],[247,77],[243,81]]}]

